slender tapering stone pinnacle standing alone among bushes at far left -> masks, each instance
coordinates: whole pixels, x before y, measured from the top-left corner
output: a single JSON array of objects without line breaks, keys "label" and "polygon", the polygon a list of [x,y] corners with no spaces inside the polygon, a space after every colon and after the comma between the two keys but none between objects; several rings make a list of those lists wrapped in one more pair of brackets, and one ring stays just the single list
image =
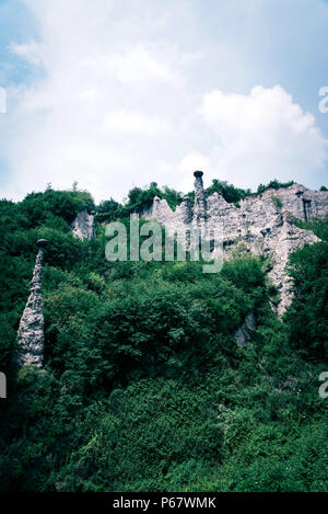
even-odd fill
[{"label": "slender tapering stone pinnacle standing alone among bushes at far left", "polygon": [[37,241],[33,277],[31,281],[30,296],[20,321],[17,331],[17,353],[15,363],[19,366],[33,364],[40,367],[44,358],[44,306],[43,306],[43,260],[44,248],[48,241]]}]

